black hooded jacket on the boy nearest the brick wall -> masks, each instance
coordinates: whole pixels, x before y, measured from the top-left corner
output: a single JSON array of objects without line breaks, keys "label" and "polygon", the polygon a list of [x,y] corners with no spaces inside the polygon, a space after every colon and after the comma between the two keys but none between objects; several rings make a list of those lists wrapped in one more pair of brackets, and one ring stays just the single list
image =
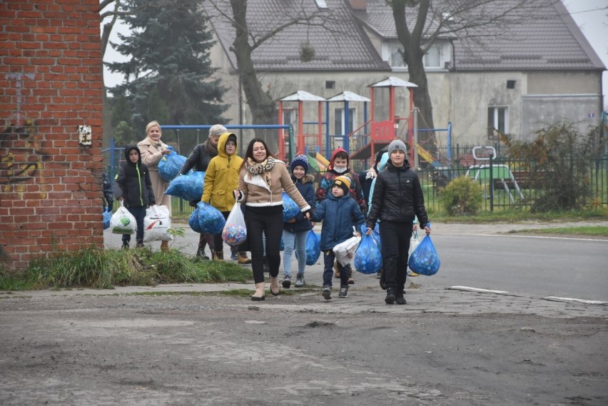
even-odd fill
[{"label": "black hooded jacket on the boy nearest the brick wall", "polygon": [[116,173],[114,178],[114,198],[124,198],[126,207],[147,206],[156,204],[148,166],[141,163],[141,153],[137,163],[131,162],[128,153],[131,150],[139,153],[137,146],[125,148],[126,163]]}]

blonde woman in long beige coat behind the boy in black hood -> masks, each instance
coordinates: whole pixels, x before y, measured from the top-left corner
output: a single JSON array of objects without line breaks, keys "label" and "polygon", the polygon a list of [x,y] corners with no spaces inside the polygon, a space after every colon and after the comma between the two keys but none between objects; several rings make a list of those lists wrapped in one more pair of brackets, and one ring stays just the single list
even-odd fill
[{"label": "blonde woman in long beige coat behind the boy in black hood", "polygon": [[[161,125],[158,124],[158,121],[150,121],[146,126],[146,139],[139,141],[137,147],[141,151],[141,161],[148,166],[156,204],[166,205],[171,214],[171,196],[165,194],[169,184],[158,175],[158,163],[161,162],[164,155],[171,153],[171,150],[166,143],[161,141],[161,136]],[[161,250],[168,249],[168,241],[162,241]]]}]

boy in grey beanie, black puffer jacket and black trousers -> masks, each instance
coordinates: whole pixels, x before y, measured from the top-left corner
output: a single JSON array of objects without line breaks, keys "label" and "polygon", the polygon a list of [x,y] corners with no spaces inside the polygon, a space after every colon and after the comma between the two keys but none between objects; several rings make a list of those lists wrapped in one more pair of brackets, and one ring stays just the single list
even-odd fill
[{"label": "boy in grey beanie, black puffer jacket and black trousers", "polygon": [[406,154],[403,141],[391,141],[386,169],[378,173],[372,207],[365,221],[368,228],[366,234],[370,235],[376,221],[380,219],[382,276],[387,287],[387,305],[392,305],[395,301],[397,305],[405,305],[407,253],[415,216],[420,220],[420,228],[424,228],[427,235],[430,234],[420,179],[410,168],[410,163],[405,159]]}]

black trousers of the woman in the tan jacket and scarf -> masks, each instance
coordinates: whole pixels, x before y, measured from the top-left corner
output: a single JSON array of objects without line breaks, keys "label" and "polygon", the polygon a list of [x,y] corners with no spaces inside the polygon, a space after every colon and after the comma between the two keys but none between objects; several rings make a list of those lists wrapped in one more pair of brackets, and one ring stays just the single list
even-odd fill
[{"label": "black trousers of the woman in the tan jacket and scarf", "polygon": [[[251,251],[251,268],[255,283],[264,281],[264,243],[270,276],[277,277],[280,266],[280,238],[283,235],[283,205],[252,207],[245,209],[248,248]],[[242,245],[241,245],[242,246]]]}]

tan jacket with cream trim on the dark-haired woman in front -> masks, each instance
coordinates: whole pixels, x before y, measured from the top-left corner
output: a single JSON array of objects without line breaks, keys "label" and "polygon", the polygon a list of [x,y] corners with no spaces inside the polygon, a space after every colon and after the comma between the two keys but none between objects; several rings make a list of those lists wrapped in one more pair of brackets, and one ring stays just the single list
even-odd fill
[{"label": "tan jacket with cream trim on the dark-haired woman in front", "polygon": [[275,161],[275,166],[270,171],[270,179],[270,187],[268,187],[261,176],[251,176],[243,167],[238,177],[238,189],[242,193],[239,202],[245,202],[245,205],[253,207],[283,205],[282,193],[285,190],[285,193],[300,206],[302,212],[310,210],[310,205],[293,184],[283,161]]}]

